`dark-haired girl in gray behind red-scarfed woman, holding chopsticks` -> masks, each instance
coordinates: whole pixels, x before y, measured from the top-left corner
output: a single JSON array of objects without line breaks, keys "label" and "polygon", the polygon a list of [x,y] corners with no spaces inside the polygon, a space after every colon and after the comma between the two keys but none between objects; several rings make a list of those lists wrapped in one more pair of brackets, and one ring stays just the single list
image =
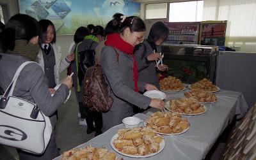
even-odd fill
[{"label": "dark-haired girl in gray behind red-scarfed woman, holding chopsticks", "polygon": [[138,45],[138,50],[134,52],[138,62],[138,79],[155,85],[158,89],[160,89],[160,85],[157,71],[164,71],[168,67],[164,64],[163,66],[159,64],[157,68],[155,60],[160,59],[160,45],[166,40],[168,34],[168,27],[163,22],[156,22],[150,29],[148,39]]}]

